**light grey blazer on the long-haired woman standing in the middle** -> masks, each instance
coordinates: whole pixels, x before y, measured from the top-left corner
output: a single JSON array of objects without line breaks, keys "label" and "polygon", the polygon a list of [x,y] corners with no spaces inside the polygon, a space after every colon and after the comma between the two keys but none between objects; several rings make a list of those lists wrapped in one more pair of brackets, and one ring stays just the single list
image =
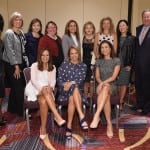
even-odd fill
[{"label": "light grey blazer on the long-haired woman standing in the middle", "polygon": [[[69,48],[72,46],[72,45],[75,45],[72,37],[70,37],[69,35],[65,34],[63,37],[62,37],[62,48],[63,48],[63,53],[64,53],[64,57],[65,59],[67,58],[67,54],[68,54],[68,50]],[[78,47],[81,48],[81,44],[80,44],[80,41],[78,41]]]}]

